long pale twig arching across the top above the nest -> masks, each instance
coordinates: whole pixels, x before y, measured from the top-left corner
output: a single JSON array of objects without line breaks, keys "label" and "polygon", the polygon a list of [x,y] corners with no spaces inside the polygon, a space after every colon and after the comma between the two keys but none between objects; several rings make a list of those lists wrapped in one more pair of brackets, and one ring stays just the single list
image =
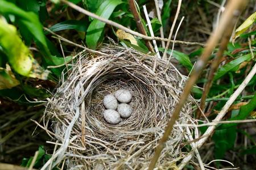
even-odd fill
[{"label": "long pale twig arching across the top above the nest", "polygon": [[[168,39],[162,39],[161,37],[150,37],[150,36],[145,36],[143,35],[142,33],[138,33],[136,31],[133,31],[129,28],[126,28],[124,27],[123,25],[121,24],[118,24],[116,22],[113,22],[112,20],[108,20],[108,19],[105,19],[105,18],[101,18],[100,16],[96,15],[96,14],[93,14],[92,12],[89,12],[87,10],[85,10],[84,8],[81,8],[80,6],[77,6],[75,5],[74,3],[72,2],[68,2],[66,0],[60,0],[61,2],[65,3],[66,5],[68,5],[69,7],[72,7],[73,9],[81,12],[82,14],[85,14],[85,15],[88,15],[92,18],[95,18],[95,19],[98,19],[100,20],[101,22],[104,22],[106,24],[109,24],[109,25],[112,25],[114,27],[117,27],[119,29],[122,29],[123,31],[127,32],[127,33],[130,33],[132,35],[135,35],[135,36],[138,36],[138,37],[142,37],[143,39],[145,40],[158,40],[158,41],[170,41],[170,42],[174,42],[172,40],[168,40]],[[185,45],[201,45],[201,46],[204,46],[204,44],[200,43],[200,42],[186,42],[186,41],[175,41],[176,43],[179,43],[179,44],[185,44]]]}]

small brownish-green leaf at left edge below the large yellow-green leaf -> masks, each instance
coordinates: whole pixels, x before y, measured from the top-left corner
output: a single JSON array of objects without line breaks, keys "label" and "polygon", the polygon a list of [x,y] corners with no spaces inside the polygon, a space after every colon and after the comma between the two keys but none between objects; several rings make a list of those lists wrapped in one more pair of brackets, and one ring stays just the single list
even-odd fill
[{"label": "small brownish-green leaf at left edge below the large yellow-green leaf", "polygon": [[6,65],[6,69],[0,67],[0,90],[18,85],[19,81],[15,78],[10,66]]}]

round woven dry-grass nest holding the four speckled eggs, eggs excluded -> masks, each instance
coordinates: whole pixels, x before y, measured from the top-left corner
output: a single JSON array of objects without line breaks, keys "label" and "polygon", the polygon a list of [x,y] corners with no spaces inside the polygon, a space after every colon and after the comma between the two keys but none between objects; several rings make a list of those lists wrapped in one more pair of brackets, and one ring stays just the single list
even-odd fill
[{"label": "round woven dry-grass nest holding the four speckled eggs, eggs excluded", "polygon": [[[166,60],[133,49],[104,45],[79,55],[47,104],[44,126],[52,129],[56,164],[67,168],[146,169],[183,88],[183,78]],[[119,88],[133,96],[131,117],[110,125],[102,116],[105,95]],[[177,124],[192,120],[188,100]],[[175,126],[157,167],[164,169],[186,154],[185,130]]]}]

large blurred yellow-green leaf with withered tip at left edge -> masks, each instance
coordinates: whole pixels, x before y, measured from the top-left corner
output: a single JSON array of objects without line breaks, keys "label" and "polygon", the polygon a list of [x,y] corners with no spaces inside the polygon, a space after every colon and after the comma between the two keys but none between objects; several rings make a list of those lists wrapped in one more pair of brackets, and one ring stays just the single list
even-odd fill
[{"label": "large blurred yellow-green leaf with withered tip at left edge", "polygon": [[43,70],[22,42],[16,28],[0,18],[0,46],[13,69],[23,76],[47,79],[48,70]]}]

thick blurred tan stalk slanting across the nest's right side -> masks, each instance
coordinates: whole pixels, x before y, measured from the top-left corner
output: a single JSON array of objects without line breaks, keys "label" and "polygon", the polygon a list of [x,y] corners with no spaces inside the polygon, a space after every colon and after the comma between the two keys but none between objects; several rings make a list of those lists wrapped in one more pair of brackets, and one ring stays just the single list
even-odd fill
[{"label": "thick blurred tan stalk slanting across the nest's right side", "polygon": [[185,84],[183,94],[180,96],[180,101],[176,105],[174,112],[172,113],[172,117],[170,118],[166,130],[164,131],[163,137],[160,139],[158,146],[155,150],[155,155],[151,159],[150,165],[148,167],[149,170],[154,169],[156,162],[158,161],[158,158],[164,148],[164,145],[169,137],[169,135],[172,132],[172,128],[179,117],[179,113],[181,108],[183,108],[183,105],[185,101],[187,100],[187,97],[193,87],[193,85],[196,83],[196,80],[199,78],[199,75],[204,69],[204,66],[206,65],[208,58],[210,54],[212,53],[214,47],[216,46],[218,40],[223,35],[226,27],[229,26],[230,21],[233,18],[233,15],[239,15],[240,10],[238,8],[243,7],[246,4],[246,1],[243,0],[237,0],[235,2],[229,1],[226,10],[224,14],[221,17],[220,24],[218,25],[218,28],[213,32],[212,36],[210,36],[207,46],[204,49],[204,52],[202,56],[200,57],[199,61],[196,62],[196,65],[193,69],[193,73],[191,77],[188,79],[187,83]]}]

